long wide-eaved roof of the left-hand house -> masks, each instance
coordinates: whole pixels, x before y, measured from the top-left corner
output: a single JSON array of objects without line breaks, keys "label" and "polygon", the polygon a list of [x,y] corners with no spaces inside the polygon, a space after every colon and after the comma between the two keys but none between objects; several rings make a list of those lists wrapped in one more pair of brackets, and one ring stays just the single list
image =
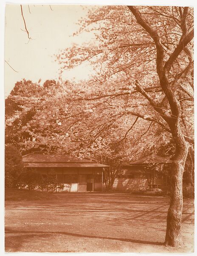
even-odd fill
[{"label": "long wide-eaved roof of the left-hand house", "polygon": [[108,167],[85,158],[71,157],[60,154],[33,152],[23,156],[26,167]]}]

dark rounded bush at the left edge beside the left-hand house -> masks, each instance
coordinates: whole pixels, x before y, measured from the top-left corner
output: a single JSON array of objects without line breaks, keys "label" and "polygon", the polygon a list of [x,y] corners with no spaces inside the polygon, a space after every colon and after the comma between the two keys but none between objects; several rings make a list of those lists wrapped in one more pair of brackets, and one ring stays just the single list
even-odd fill
[{"label": "dark rounded bush at the left edge beside the left-hand house", "polygon": [[6,145],[5,147],[5,187],[17,186],[17,180],[23,171],[22,156],[17,148]]}]

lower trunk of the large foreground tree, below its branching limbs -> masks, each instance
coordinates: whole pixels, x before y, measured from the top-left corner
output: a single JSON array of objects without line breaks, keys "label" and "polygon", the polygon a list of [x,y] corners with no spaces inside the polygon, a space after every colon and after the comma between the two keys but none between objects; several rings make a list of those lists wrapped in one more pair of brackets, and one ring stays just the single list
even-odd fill
[{"label": "lower trunk of the large foreground tree, below its branching limbs", "polygon": [[165,245],[178,247],[182,245],[181,218],[183,209],[183,172],[189,146],[179,129],[175,133],[176,154],[172,163],[171,201],[167,215]]}]

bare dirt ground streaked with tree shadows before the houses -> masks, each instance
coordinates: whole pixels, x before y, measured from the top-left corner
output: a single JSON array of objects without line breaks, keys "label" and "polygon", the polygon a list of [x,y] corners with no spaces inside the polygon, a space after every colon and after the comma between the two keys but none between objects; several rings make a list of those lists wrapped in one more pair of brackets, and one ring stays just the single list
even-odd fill
[{"label": "bare dirt ground streaked with tree shadows before the houses", "polygon": [[6,190],[6,252],[188,253],[194,201],[184,200],[183,247],[163,246],[169,198]]}]

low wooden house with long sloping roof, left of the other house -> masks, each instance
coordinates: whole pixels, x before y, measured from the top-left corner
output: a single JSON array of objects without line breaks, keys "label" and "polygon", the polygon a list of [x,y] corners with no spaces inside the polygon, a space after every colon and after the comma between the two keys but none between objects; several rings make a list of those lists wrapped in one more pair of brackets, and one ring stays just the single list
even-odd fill
[{"label": "low wooden house with long sloping roof, left of the other house", "polygon": [[87,159],[46,152],[26,154],[23,163],[27,169],[36,170],[42,175],[53,173],[58,182],[65,185],[63,191],[69,191],[71,186],[70,192],[102,191],[103,168],[108,167]]}]

